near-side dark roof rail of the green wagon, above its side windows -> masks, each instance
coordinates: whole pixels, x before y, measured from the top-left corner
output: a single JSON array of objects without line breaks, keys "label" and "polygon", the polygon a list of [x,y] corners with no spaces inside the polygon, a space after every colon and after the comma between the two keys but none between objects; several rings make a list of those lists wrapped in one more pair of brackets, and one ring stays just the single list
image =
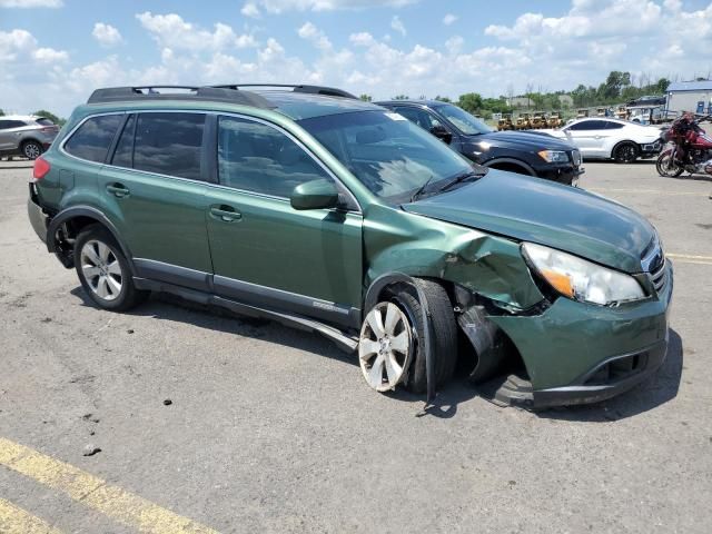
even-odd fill
[{"label": "near-side dark roof rail of the green wagon, above its side windows", "polygon": [[[160,89],[180,89],[184,92],[161,92]],[[250,91],[228,87],[201,86],[135,86],[108,87],[95,90],[87,103],[126,102],[140,100],[201,100],[239,103],[256,108],[273,109],[266,98]]]}]

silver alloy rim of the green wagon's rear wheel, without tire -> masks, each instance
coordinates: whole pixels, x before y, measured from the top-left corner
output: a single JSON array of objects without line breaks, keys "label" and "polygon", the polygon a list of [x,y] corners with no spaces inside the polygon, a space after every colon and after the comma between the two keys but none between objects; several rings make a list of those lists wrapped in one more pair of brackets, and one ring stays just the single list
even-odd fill
[{"label": "silver alloy rim of the green wagon's rear wheel, without tire", "polygon": [[81,273],[92,293],[103,300],[115,300],[121,294],[123,273],[113,250],[102,241],[85,244],[80,255]]}]

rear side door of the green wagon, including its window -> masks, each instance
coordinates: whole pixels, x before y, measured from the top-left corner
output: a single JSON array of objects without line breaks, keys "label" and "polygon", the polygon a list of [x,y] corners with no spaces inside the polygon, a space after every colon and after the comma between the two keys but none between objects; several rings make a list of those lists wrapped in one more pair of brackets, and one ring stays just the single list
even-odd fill
[{"label": "rear side door of the green wagon, including its window", "polygon": [[206,115],[128,116],[98,180],[105,211],[131,250],[138,275],[209,289],[205,226]]}]

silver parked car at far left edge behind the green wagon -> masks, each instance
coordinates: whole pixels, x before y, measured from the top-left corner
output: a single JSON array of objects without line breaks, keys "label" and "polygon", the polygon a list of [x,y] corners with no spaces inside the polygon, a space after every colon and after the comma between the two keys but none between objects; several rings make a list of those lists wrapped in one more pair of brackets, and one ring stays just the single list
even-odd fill
[{"label": "silver parked car at far left edge behind the green wagon", "polygon": [[59,134],[59,126],[46,117],[10,115],[0,117],[0,157],[38,158]]}]

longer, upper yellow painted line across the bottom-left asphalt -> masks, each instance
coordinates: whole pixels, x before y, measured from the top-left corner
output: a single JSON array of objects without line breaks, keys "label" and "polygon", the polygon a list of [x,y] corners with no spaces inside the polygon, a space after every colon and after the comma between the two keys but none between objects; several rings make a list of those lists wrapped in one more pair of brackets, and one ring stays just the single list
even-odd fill
[{"label": "longer, upper yellow painted line across the bottom-left asphalt", "polygon": [[58,490],[70,498],[138,532],[217,534],[217,531],[112,486],[86,471],[2,437],[0,437],[0,465],[52,490]]}]

